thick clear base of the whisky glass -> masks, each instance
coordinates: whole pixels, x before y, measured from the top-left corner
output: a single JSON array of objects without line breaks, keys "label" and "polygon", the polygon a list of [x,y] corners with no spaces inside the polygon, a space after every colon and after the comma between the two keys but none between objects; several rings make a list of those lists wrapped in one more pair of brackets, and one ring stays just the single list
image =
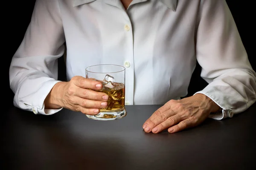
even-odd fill
[{"label": "thick clear base of the whisky glass", "polygon": [[122,110],[114,111],[114,112],[99,112],[97,115],[86,115],[89,119],[94,120],[116,120],[122,119],[127,115],[127,111],[125,108]]}]

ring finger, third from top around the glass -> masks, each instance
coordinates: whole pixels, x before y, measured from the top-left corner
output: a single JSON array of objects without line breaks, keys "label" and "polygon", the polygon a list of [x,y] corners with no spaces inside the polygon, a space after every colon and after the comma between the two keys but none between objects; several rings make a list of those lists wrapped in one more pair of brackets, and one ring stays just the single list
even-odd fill
[{"label": "ring finger, third from top around the glass", "polygon": [[83,98],[78,98],[77,103],[83,107],[83,108],[106,108],[107,107],[107,102],[101,102],[101,101],[96,101],[96,100],[90,100],[90,99],[83,99]]}]

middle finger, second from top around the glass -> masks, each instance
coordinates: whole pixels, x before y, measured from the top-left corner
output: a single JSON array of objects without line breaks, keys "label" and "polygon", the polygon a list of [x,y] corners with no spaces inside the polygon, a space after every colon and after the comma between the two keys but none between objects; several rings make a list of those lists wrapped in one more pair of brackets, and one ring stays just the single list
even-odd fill
[{"label": "middle finger, second from top around the glass", "polygon": [[107,101],[108,95],[102,92],[96,92],[86,88],[80,88],[76,91],[76,96],[79,96],[84,99],[98,100],[98,101]]}]

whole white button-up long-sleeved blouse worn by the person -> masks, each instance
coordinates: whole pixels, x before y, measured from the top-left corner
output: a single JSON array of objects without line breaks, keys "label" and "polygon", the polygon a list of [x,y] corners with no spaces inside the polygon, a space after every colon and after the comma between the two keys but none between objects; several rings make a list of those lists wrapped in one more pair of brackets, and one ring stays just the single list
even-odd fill
[{"label": "whole white button-up long-sleeved blouse worn by the person", "polygon": [[[64,43],[66,42],[66,46]],[[256,73],[225,0],[37,0],[13,56],[14,105],[50,115],[44,99],[58,82],[67,50],[67,79],[97,64],[126,67],[126,105],[165,104],[186,96],[196,61],[205,94],[232,117],[256,101]]]}]

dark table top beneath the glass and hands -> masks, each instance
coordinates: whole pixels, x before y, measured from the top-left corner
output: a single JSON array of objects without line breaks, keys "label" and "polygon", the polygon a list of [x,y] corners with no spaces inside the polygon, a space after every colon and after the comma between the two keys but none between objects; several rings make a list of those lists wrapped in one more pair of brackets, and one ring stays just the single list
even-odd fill
[{"label": "dark table top beneath the glass and hands", "polygon": [[[115,121],[61,110],[51,116],[12,107],[1,113],[1,167],[14,170],[251,170],[256,104],[233,118],[207,119],[169,134],[142,125],[160,105],[126,106]],[[1,168],[2,169],[2,168]]]}]

